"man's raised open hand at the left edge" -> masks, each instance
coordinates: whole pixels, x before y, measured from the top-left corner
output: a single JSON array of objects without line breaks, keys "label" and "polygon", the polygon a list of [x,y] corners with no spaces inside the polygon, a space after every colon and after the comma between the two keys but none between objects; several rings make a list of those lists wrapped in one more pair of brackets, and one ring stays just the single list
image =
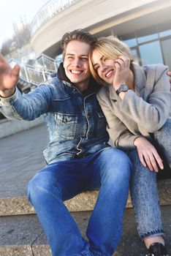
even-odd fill
[{"label": "man's raised open hand at the left edge", "polygon": [[0,54],[0,97],[10,97],[15,92],[18,83],[20,66],[10,67],[4,57]]}]

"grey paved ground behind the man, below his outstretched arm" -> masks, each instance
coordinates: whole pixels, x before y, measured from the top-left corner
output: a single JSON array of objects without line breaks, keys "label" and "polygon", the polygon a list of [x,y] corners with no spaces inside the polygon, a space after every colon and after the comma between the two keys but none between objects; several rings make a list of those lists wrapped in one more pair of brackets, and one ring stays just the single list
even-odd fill
[{"label": "grey paved ground behind the man, below his outstretched arm", "polygon": [[46,124],[0,139],[0,197],[26,194],[26,184],[45,166]]}]

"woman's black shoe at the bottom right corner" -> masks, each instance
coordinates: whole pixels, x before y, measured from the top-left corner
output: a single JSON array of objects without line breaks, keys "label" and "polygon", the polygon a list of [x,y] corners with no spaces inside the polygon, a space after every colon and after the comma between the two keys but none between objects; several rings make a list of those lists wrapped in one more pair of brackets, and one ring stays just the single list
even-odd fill
[{"label": "woman's black shoe at the bottom right corner", "polygon": [[169,256],[167,250],[163,244],[153,243],[148,249],[146,256]]}]

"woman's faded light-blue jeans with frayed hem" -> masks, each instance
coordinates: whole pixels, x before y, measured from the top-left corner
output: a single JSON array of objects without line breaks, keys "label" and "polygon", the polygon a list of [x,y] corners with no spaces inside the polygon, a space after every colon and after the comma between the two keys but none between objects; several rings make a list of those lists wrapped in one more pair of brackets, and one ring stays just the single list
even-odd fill
[{"label": "woman's faded light-blue jeans with frayed hem", "polygon": [[[159,131],[154,132],[153,137],[171,167],[171,118],[167,119],[167,122]],[[164,235],[156,186],[156,173],[143,167],[137,155],[137,150],[129,151],[128,155],[133,165],[130,192],[140,238]]]}]

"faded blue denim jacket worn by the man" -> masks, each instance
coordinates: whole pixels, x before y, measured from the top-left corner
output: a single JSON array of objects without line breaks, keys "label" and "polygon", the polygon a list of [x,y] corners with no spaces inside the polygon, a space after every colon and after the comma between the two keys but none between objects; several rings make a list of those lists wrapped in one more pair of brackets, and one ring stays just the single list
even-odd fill
[{"label": "faded blue denim jacket worn by the man", "polygon": [[28,94],[16,89],[12,97],[1,98],[0,110],[10,119],[33,120],[45,115],[50,139],[44,151],[47,163],[91,154],[107,147],[109,139],[96,99],[99,88],[91,81],[91,91],[84,95],[66,80],[50,78]]}]

